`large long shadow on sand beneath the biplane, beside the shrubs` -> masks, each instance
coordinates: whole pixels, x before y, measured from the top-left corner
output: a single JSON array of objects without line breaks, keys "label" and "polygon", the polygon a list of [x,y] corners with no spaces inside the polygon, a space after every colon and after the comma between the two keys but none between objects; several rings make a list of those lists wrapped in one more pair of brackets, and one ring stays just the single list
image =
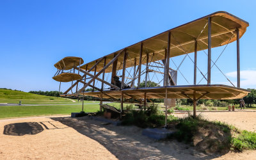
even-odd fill
[{"label": "large long shadow on sand beneath the biplane, beside the shrubs", "polygon": [[118,159],[212,159],[225,154],[204,154],[176,140],[152,140],[142,136],[141,128],[108,125],[87,116],[51,119],[99,142]]}]

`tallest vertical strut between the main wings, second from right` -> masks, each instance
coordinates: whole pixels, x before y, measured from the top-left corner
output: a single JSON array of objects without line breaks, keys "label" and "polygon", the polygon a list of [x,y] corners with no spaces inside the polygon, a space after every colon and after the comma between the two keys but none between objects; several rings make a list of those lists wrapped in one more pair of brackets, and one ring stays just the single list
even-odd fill
[{"label": "tallest vertical strut between the main wings, second from right", "polygon": [[211,49],[212,49],[212,38],[211,38],[211,27],[212,19],[208,17],[208,68],[207,68],[207,84],[211,84]]}]

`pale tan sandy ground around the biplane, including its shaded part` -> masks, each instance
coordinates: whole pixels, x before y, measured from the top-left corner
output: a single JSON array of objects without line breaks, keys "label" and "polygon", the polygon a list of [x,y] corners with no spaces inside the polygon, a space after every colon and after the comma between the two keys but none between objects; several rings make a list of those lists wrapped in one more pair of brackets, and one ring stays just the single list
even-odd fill
[{"label": "pale tan sandy ground around the biplane, including its shaded part", "polygon": [[[256,113],[202,116],[250,131],[256,126]],[[115,126],[87,117],[0,120],[0,159],[256,159],[256,151],[206,155],[184,143],[152,140],[141,132],[138,127]]]}]

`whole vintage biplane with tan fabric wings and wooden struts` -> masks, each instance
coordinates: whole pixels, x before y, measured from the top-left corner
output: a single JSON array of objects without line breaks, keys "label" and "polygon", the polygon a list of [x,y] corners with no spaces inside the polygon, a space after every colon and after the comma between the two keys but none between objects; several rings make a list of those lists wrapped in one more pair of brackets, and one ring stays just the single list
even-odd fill
[{"label": "whole vintage biplane with tan fabric wings and wooden struts", "polygon": [[[99,97],[100,104],[102,99],[119,100],[121,113],[124,102],[131,102],[131,99],[143,106],[147,106],[147,99],[165,99],[166,114],[172,103],[168,99],[191,99],[193,116],[196,116],[196,101],[199,99],[241,99],[248,95],[248,90],[240,88],[239,60],[239,38],[244,35],[248,26],[248,22],[230,13],[215,12],[84,65],[81,65],[82,58],[63,58],[54,65],[58,72],[52,78],[60,82],[72,82],[61,96]],[[232,86],[211,84],[211,68],[214,65],[217,67],[218,60],[212,60],[212,48],[234,41],[237,44],[237,86],[228,78]],[[200,56],[197,55],[198,51],[207,54],[205,74],[197,66],[197,56]],[[189,53],[192,52],[194,57],[191,58]],[[194,74],[193,84],[178,84],[177,74],[181,64],[174,63],[172,58],[176,56],[184,56],[182,61],[185,58],[192,61],[193,68],[187,70],[191,69]],[[170,61],[173,61],[173,66],[170,66]],[[202,74],[205,84],[198,84],[197,71]],[[181,72],[180,74],[184,77]],[[157,85],[151,86],[152,79],[158,80]],[[140,86],[141,83],[145,84]],[[88,87],[92,90],[86,92]]]}]

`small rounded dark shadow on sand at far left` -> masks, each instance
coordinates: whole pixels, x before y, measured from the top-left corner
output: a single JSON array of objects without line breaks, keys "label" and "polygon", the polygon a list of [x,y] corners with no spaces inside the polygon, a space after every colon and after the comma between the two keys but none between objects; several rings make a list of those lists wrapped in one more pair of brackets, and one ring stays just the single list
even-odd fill
[{"label": "small rounded dark shadow on sand at far left", "polygon": [[24,136],[25,134],[38,134],[44,131],[37,122],[24,122],[4,125],[4,134],[9,136]]}]

